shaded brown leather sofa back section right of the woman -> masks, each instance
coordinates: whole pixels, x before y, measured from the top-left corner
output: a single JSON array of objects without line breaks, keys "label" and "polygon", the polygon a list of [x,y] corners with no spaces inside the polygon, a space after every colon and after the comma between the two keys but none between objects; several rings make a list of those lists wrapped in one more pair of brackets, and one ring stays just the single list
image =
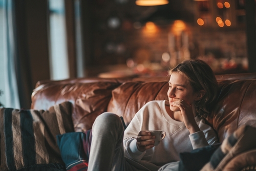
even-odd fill
[{"label": "shaded brown leather sofa back section right of the woman", "polygon": [[255,79],[219,82],[217,104],[207,120],[217,131],[220,142],[242,125],[256,127],[255,87]]}]

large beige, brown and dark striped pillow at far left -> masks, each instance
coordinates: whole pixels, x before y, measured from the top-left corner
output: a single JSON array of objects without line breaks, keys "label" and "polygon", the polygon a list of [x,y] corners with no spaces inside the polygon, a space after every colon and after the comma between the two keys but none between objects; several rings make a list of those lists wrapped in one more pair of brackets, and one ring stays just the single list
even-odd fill
[{"label": "large beige, brown and dark striped pillow at far left", "polygon": [[17,170],[35,164],[60,163],[56,135],[74,131],[72,104],[49,110],[0,109],[0,170]]}]

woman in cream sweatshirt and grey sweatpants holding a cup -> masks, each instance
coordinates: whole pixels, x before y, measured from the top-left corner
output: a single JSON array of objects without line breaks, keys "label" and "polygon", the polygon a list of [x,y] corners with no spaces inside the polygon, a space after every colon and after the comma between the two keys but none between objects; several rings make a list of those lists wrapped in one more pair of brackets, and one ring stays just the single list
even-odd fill
[{"label": "woman in cream sweatshirt and grey sweatpants holding a cup", "polygon": [[[211,112],[218,90],[211,68],[202,60],[186,60],[169,75],[168,101],[146,103],[124,136],[117,115],[96,118],[88,170],[158,170],[170,162],[176,162],[177,168],[179,153],[218,143],[203,119]],[[147,130],[163,130],[166,136],[154,146],[155,137]]]}]

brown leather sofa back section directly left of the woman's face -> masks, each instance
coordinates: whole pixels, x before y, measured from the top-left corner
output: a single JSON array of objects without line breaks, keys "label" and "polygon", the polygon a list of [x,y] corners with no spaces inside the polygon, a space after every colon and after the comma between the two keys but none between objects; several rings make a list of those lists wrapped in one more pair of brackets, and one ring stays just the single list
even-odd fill
[{"label": "brown leather sofa back section directly left of the woman's face", "polygon": [[157,82],[124,82],[112,91],[108,112],[122,116],[126,126],[144,104],[152,100],[168,100],[167,80]]}]

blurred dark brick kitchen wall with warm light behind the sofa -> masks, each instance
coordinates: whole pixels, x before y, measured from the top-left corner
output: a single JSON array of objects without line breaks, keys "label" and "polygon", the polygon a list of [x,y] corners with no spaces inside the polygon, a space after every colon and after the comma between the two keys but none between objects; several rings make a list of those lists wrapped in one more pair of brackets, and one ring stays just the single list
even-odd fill
[{"label": "blurred dark brick kitchen wall with warm light behind the sofa", "polygon": [[[87,17],[91,22],[91,37],[84,39],[90,42],[87,74],[97,76],[104,72],[106,65],[125,64],[127,59],[137,60],[138,55],[143,58],[140,52],[148,54],[146,58],[150,62],[160,63],[162,54],[170,53],[168,34],[172,33],[176,20],[186,25],[183,32],[188,35],[190,58],[200,57],[211,62],[216,74],[247,72],[246,3],[227,1],[230,8],[219,9],[218,2],[225,1],[169,1],[168,5],[154,7],[137,6],[135,1],[93,1],[84,6],[84,10],[90,11]],[[251,8],[255,8],[255,3]],[[250,15],[252,13],[255,15],[255,12]],[[229,19],[231,26],[219,27],[215,21],[217,16]],[[205,20],[204,26],[197,24],[198,18]],[[113,27],[109,25],[111,19],[117,19]],[[154,22],[157,31],[145,33],[147,22]],[[228,65],[232,62],[238,67],[231,70]]]}]

